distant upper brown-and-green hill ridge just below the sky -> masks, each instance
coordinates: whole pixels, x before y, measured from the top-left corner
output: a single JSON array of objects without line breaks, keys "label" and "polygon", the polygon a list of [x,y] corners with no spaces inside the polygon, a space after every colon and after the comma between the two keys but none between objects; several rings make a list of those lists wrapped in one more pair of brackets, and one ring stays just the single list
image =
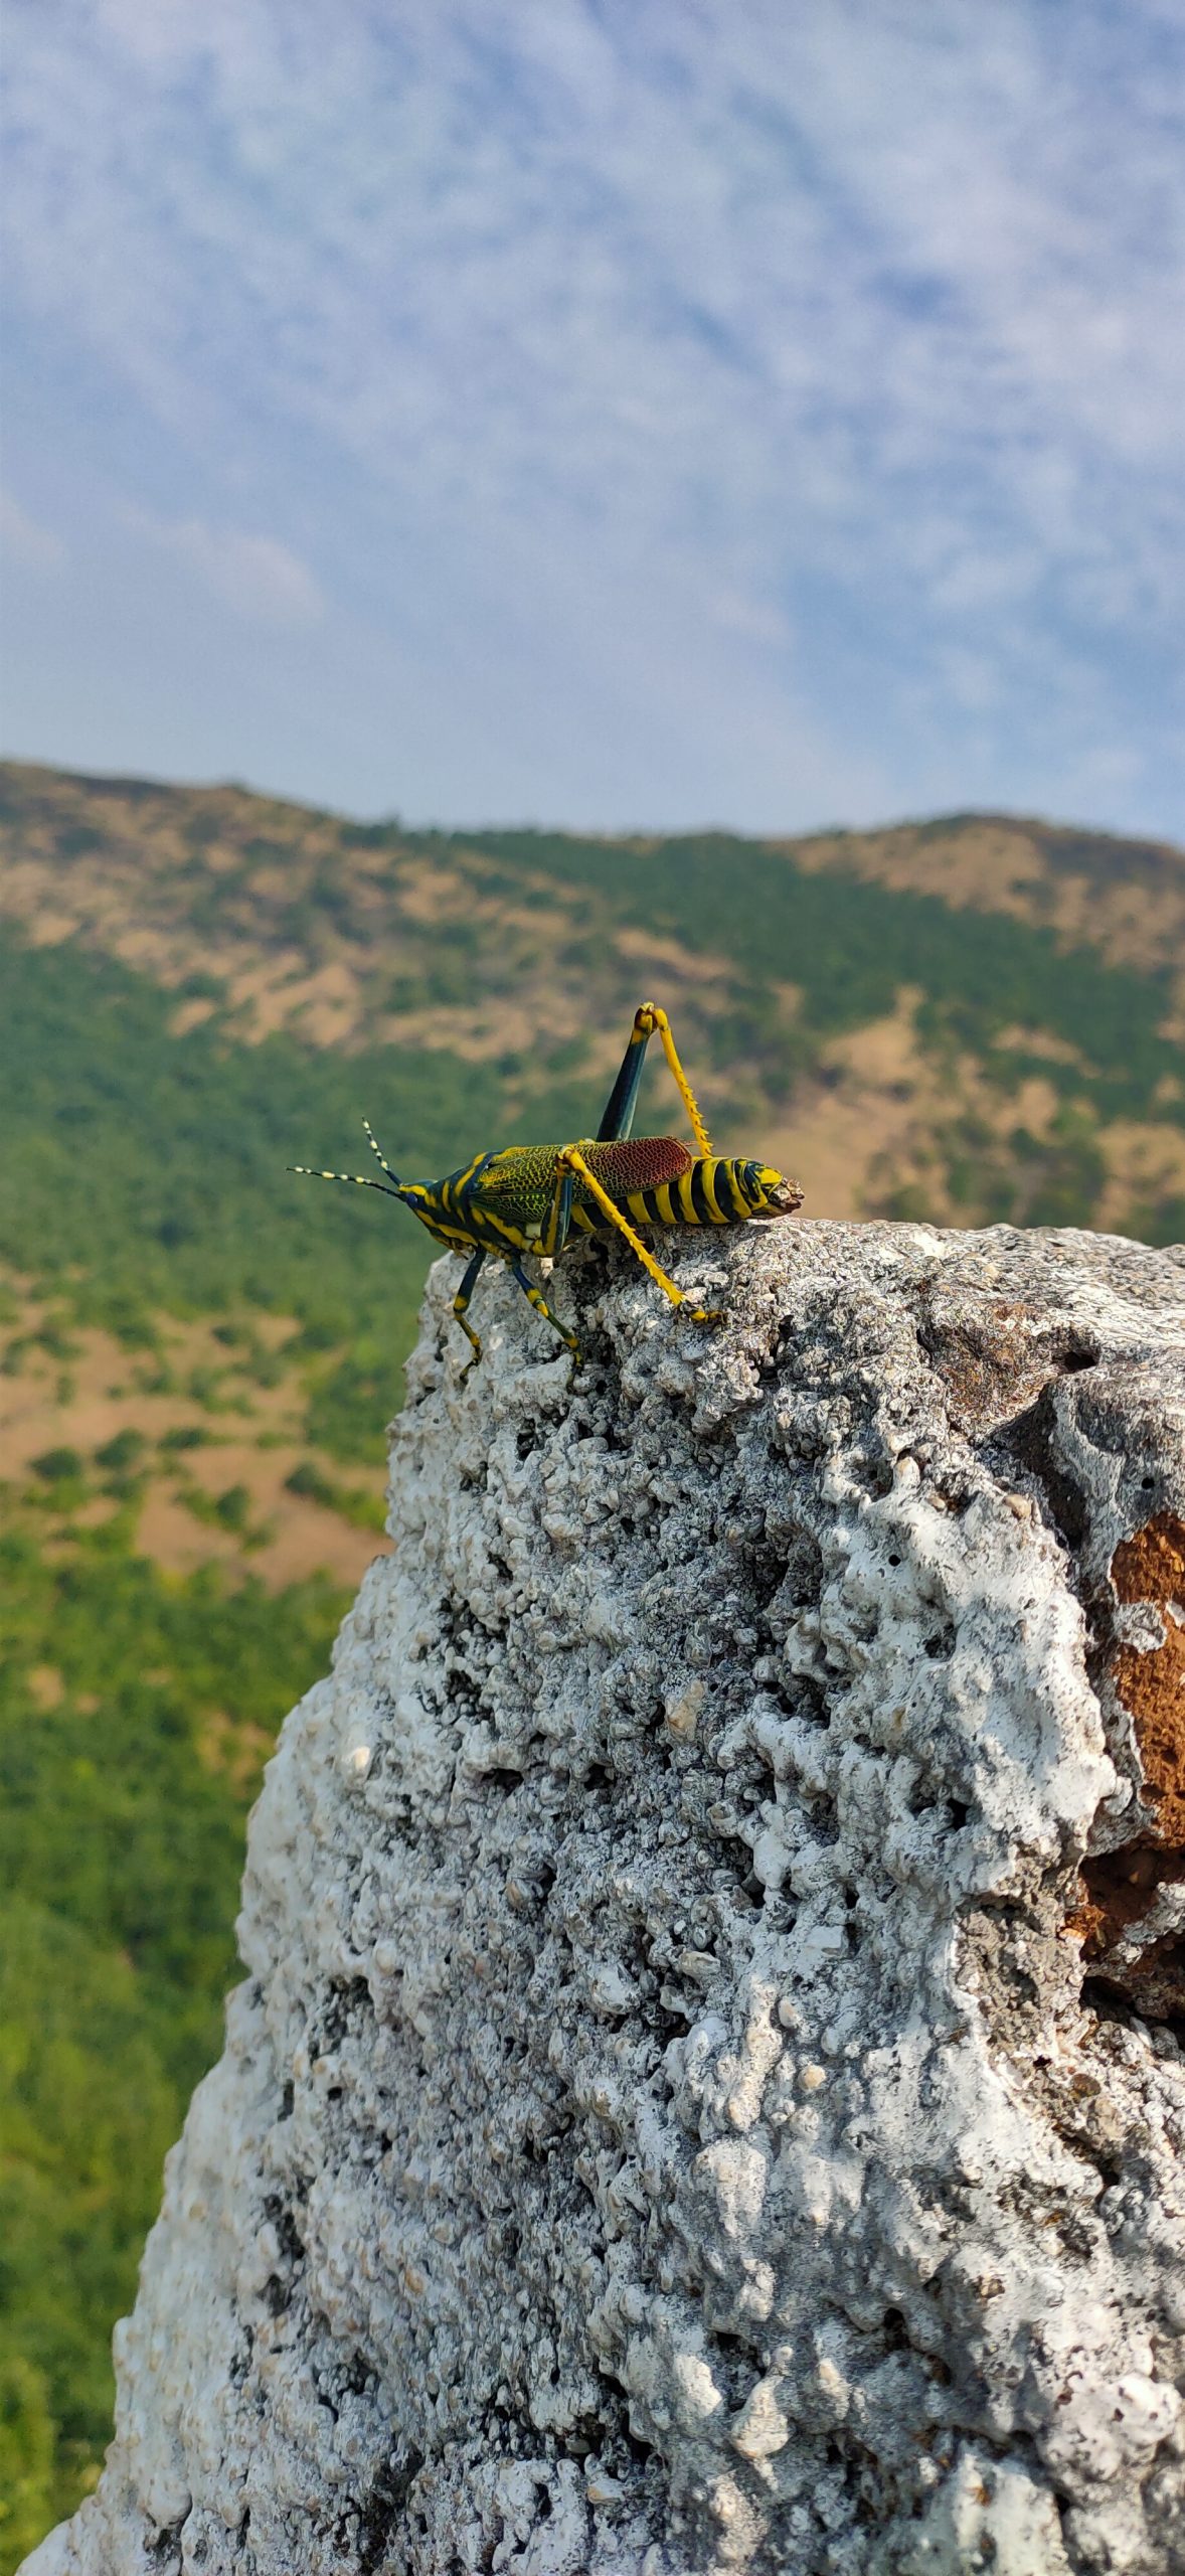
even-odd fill
[{"label": "distant upper brown-and-green hill ridge just below the sky", "polygon": [[502,1136],[549,1095],[585,1126],[654,987],[721,1131],[755,1131],[814,1213],[1182,1229],[1167,845],[984,814],[796,842],[410,832],[8,765],[0,917],[167,997],[160,1036],[286,1036],[371,1082],[381,1054],[402,1151],[428,1151],[415,1113],[399,1133],[412,1054],[446,1162],[495,1136],[479,1105]]}]

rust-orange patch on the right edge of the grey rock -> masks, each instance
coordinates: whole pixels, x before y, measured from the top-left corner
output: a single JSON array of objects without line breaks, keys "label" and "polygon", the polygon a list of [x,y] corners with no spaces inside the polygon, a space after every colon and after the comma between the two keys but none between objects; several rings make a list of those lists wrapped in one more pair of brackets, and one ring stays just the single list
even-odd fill
[{"label": "rust-orange patch on the right edge of the grey rock", "polygon": [[1149,1651],[1121,1646],[1113,1674],[1157,1803],[1157,1837],[1185,1844],[1185,1522],[1157,1512],[1123,1538],[1110,1582],[1121,1602],[1152,1602],[1162,1618],[1164,1641]]}]

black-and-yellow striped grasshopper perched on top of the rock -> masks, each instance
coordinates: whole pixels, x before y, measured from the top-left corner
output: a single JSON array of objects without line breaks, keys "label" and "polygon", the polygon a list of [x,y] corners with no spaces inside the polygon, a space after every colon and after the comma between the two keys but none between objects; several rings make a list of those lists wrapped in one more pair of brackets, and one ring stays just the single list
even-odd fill
[{"label": "black-and-yellow striped grasshopper perched on top of the rock", "polygon": [[[683,1105],[696,1136],[696,1154],[678,1136],[631,1136],[639,1097],[641,1066],[649,1038],[659,1036],[662,1054],[675,1074]],[[469,1301],[477,1273],[489,1252],[510,1265],[536,1314],[559,1332],[559,1340],[580,1360],[577,1334],[559,1321],[546,1296],[523,1270],[523,1252],[554,1260],[582,1234],[621,1234],[639,1257],[657,1288],[672,1306],[685,1306],[693,1324],[719,1321],[716,1309],[693,1306],[683,1288],[659,1267],[639,1236],[657,1226],[744,1226],[750,1218],[791,1216],[801,1206],[801,1190],[783,1180],[765,1162],[724,1162],[711,1151],[711,1139],[698,1113],[696,1095],[683,1072],[670,1033],[667,1012],[657,1002],[644,1002],[634,1012],[634,1028],[621,1059],[618,1079],[605,1100],[595,1136],[580,1144],[510,1144],[502,1151],[474,1154],[446,1180],[399,1180],[379,1151],[371,1123],[363,1118],[371,1151],[379,1157],[386,1180],[363,1172],[317,1172],[294,1162],[291,1172],[307,1180],[345,1180],[358,1190],[384,1190],[402,1198],[428,1226],[433,1242],[446,1252],[466,1252],[469,1265],[453,1296],[453,1314],[471,1345],[461,1378],[477,1368],[482,1342],[469,1324]]]}]

